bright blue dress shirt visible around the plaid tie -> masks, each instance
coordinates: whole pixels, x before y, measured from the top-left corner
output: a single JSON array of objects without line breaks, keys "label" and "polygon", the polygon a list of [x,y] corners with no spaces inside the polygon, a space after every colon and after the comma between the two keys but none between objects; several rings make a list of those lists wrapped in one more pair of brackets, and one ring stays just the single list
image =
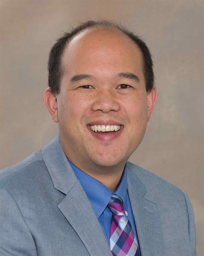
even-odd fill
[{"label": "bright blue dress shirt visible around the plaid tie", "polygon": [[[74,170],[78,180],[80,181],[87,197],[89,198],[89,201],[90,201],[90,203],[93,207],[93,210],[96,214],[96,217],[98,218],[98,221],[99,221],[101,228],[104,232],[106,240],[110,246],[109,234],[110,234],[112,212],[107,207],[107,204],[110,201],[113,193],[111,190],[106,188],[106,186],[104,186],[101,182],[99,182],[98,180],[92,178],[85,172],[78,169],[70,161],[69,161],[69,163],[70,163],[72,169]],[[123,201],[125,211],[128,212],[128,220],[130,221],[132,229],[135,233],[135,237],[137,240],[138,249],[139,249],[139,253],[140,253],[139,243],[138,243],[138,239],[137,239],[137,232],[136,232],[136,228],[135,228],[135,221],[134,221],[132,208],[130,205],[130,200],[129,200],[128,191],[127,191],[127,176],[128,176],[128,170],[127,170],[127,164],[126,164],[123,174],[122,174],[122,177],[121,177],[121,180],[120,180],[120,185],[117,188],[117,190],[114,192],[114,194],[116,194],[117,196],[120,196],[120,198]]]}]

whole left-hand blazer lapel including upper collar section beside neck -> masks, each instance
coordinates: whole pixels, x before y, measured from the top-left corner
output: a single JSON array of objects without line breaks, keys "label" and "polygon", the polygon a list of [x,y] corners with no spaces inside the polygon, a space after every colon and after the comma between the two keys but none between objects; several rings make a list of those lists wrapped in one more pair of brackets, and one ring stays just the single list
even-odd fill
[{"label": "whole left-hand blazer lapel including upper collar section beside neck", "polygon": [[59,135],[42,149],[54,187],[66,196],[57,205],[91,256],[112,256],[104,233],[79,180],[65,156]]}]

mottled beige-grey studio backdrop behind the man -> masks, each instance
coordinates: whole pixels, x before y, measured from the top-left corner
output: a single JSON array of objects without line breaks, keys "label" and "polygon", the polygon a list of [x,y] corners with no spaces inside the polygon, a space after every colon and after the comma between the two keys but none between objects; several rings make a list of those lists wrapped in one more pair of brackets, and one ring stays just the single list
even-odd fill
[{"label": "mottled beige-grey studio backdrop behind the man", "polygon": [[204,256],[203,7],[193,0],[1,1],[1,168],[23,160],[58,132],[42,102],[55,39],[77,21],[120,21],[149,45],[158,90],[131,161],[187,192],[198,256]]}]

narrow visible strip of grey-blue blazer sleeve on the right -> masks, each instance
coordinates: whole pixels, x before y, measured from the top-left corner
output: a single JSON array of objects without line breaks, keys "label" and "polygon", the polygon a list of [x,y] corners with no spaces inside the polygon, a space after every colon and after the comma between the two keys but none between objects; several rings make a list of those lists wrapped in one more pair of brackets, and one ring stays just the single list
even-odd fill
[{"label": "narrow visible strip of grey-blue blazer sleeve on the right", "polygon": [[[182,190],[183,191],[183,190]],[[194,221],[194,213],[191,201],[187,194],[183,191],[185,199],[186,199],[186,207],[188,213],[188,234],[189,234],[189,241],[190,241],[190,250],[191,256],[197,256],[196,253],[196,235],[195,235],[195,221]]]}]

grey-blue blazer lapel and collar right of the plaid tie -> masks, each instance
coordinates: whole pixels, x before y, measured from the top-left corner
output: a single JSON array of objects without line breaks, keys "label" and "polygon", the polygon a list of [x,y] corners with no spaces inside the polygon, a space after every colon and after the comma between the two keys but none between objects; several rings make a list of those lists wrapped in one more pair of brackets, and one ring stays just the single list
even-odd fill
[{"label": "grey-blue blazer lapel and collar right of the plaid tie", "polygon": [[[133,173],[134,172],[134,173]],[[140,245],[141,256],[164,256],[162,223],[157,204],[144,197],[146,188],[128,168],[128,196]]]}]

